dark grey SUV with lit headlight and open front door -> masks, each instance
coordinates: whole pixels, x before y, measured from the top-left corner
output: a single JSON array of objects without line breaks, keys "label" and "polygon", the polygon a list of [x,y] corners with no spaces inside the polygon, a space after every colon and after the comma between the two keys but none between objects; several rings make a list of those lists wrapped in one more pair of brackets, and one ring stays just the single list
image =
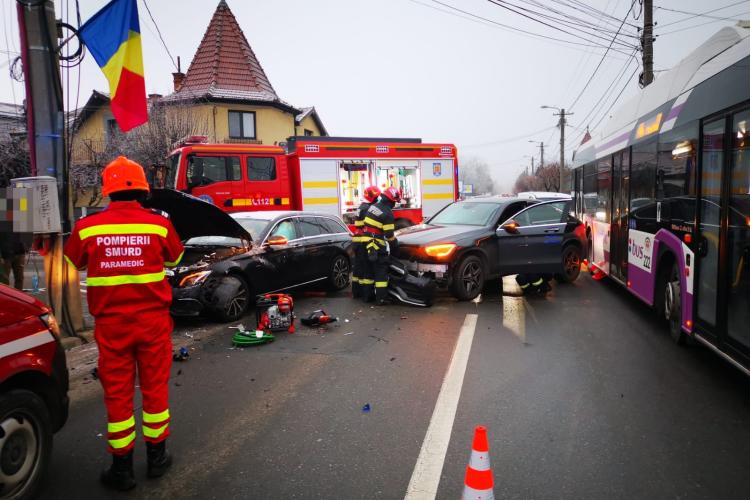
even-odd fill
[{"label": "dark grey SUV with lit headlight and open front door", "polygon": [[399,258],[410,272],[434,277],[459,300],[490,279],[549,273],[572,282],[580,273],[585,229],[572,201],[472,198],[448,205],[425,224],[398,231]]}]

